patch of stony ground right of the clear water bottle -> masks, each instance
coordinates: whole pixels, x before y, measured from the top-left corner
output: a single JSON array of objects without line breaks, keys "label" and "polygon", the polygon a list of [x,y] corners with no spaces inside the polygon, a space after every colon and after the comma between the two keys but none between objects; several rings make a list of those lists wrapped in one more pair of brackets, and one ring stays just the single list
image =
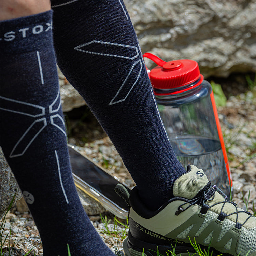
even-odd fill
[{"label": "patch of stony ground right of the clear water bottle", "polygon": [[233,178],[233,201],[245,210],[244,200],[248,200],[251,212],[256,211],[255,96],[256,90],[232,96],[218,109]]}]

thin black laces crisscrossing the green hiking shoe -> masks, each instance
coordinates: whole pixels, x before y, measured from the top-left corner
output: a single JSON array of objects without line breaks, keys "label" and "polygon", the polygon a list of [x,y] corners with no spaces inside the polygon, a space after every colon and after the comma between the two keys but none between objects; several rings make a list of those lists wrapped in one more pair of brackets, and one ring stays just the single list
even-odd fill
[{"label": "thin black laces crisscrossing the green hiking shoe", "polygon": [[[219,219],[220,221],[223,221],[226,217],[231,216],[233,214],[236,214],[236,226],[235,227],[238,228],[238,229],[241,229],[241,227],[248,221],[248,219],[252,216],[252,214],[250,212],[244,211],[244,210],[239,211],[238,207],[237,207],[237,204],[232,202],[232,201],[229,201],[229,200],[224,200],[224,201],[215,203],[215,204],[213,204],[211,206],[205,204],[205,202],[207,202],[207,201],[213,201],[214,200],[214,197],[215,197],[215,191],[214,190],[217,191],[219,194],[221,194],[224,197],[224,199],[227,198],[227,196],[225,195],[225,193],[221,189],[219,189],[216,185],[211,187],[211,183],[209,182],[209,185],[205,186],[205,188],[203,190],[201,190],[201,193],[200,193],[200,195],[198,197],[195,197],[195,198],[193,198],[193,199],[191,199],[191,200],[181,204],[178,207],[177,211],[175,212],[175,215],[179,215],[181,212],[186,211],[189,207],[191,207],[194,204],[202,205],[201,211],[202,210],[205,211],[203,213],[203,214],[205,214],[208,211],[208,209],[210,209],[211,207],[214,207],[215,205],[222,203],[223,205],[222,205],[222,208],[221,208],[221,212],[220,212],[220,214],[219,214],[217,219]],[[188,207],[183,209],[183,205],[185,205],[187,203],[189,203]],[[233,204],[234,207],[236,208],[236,211],[234,211],[234,212],[232,212],[230,214],[225,214],[222,210],[223,210],[224,205],[226,203]],[[200,213],[201,213],[201,211],[200,211]],[[243,223],[239,223],[238,222],[238,214],[239,213],[247,213],[249,215],[248,218]]]}]

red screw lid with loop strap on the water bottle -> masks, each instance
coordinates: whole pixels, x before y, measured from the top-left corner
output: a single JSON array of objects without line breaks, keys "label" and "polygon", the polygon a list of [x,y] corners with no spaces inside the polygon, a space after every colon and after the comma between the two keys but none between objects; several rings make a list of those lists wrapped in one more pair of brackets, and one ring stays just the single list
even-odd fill
[{"label": "red screw lid with loop strap on the water bottle", "polygon": [[[145,53],[143,57],[151,59],[158,65],[149,74],[152,86],[155,89],[177,88],[181,92],[180,90],[195,88],[203,81],[198,63],[194,60],[182,59],[165,62],[151,53]],[[189,85],[191,85],[189,88],[184,88]],[[155,94],[162,95],[156,92]]]}]

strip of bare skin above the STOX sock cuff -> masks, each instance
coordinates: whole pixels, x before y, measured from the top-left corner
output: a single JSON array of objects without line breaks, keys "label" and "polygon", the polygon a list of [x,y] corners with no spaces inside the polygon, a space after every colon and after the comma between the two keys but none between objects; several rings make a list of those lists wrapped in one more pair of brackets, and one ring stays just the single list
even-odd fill
[{"label": "strip of bare skin above the STOX sock cuff", "polygon": [[0,20],[15,19],[51,10],[50,0],[1,0]]}]

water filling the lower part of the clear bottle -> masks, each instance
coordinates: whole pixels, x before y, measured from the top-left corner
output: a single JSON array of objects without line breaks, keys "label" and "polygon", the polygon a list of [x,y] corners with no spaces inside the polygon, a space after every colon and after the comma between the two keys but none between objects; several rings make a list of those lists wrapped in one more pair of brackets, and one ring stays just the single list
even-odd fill
[{"label": "water filling the lower part of the clear bottle", "polygon": [[202,136],[176,136],[170,143],[178,160],[184,165],[203,169],[212,185],[217,185],[229,198],[229,181],[226,165],[218,140]]}]

